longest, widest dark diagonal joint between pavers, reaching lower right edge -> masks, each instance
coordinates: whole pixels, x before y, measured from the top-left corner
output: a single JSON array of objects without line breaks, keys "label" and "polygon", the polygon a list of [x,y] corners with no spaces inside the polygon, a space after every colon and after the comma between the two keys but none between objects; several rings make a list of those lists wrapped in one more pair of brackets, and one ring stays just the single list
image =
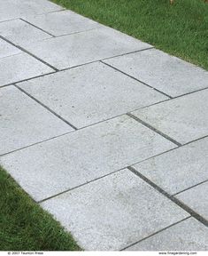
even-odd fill
[{"label": "longest, widest dark diagonal joint between pavers, reaching lower right edge", "polygon": [[161,193],[162,195],[166,196],[167,198],[169,198],[171,201],[173,201],[173,203],[177,204],[178,206],[180,206],[184,211],[189,212],[189,214],[195,218],[196,220],[200,221],[201,223],[204,224],[204,226],[208,227],[208,220],[205,220],[204,217],[202,217],[201,215],[199,215],[197,212],[193,211],[192,209],[189,208],[189,206],[187,206],[186,204],[183,204],[179,199],[177,199],[174,196],[169,195],[164,189],[158,187],[158,185],[156,185],[154,182],[152,182],[151,180],[149,180],[148,178],[146,178],[145,176],[143,176],[143,174],[141,174],[140,172],[138,172],[137,170],[135,170],[134,167],[132,166],[128,166],[127,169],[130,172],[135,173],[136,176],[140,177],[141,179],[143,179],[145,182],[147,182],[148,184],[150,184],[150,186],[152,188],[155,188],[158,190],[159,193]]}]

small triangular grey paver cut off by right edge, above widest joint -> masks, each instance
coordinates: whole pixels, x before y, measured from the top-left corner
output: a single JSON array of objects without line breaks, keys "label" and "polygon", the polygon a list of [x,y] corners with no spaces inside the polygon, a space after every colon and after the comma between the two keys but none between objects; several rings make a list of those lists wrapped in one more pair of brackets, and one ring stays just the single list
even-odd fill
[{"label": "small triangular grey paver cut off by right edge, above widest joint", "polygon": [[194,188],[190,188],[176,197],[189,208],[208,220],[208,181]]}]

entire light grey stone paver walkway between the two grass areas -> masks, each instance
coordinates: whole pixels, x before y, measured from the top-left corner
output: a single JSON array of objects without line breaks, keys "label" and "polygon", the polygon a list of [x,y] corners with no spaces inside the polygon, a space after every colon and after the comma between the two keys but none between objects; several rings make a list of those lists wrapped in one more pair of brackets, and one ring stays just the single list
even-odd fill
[{"label": "entire light grey stone paver walkway between the two grass areas", "polygon": [[0,0],[0,74],[0,164],[81,247],[208,249],[208,72]]}]

